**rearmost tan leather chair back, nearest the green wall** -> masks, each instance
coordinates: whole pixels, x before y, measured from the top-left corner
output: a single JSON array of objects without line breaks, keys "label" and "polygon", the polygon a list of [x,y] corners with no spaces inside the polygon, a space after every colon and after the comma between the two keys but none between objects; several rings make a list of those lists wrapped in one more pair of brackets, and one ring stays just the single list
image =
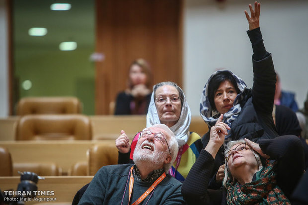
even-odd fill
[{"label": "rearmost tan leather chair back, nearest the green wall", "polygon": [[25,97],[18,102],[17,115],[80,114],[81,109],[76,97]]}]

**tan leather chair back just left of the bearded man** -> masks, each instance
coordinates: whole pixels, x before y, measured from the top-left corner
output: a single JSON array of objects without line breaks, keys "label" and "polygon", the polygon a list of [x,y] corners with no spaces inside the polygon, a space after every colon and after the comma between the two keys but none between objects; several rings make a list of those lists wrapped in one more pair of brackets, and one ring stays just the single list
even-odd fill
[{"label": "tan leather chair back just left of the bearded man", "polygon": [[118,149],[108,141],[96,144],[88,150],[88,159],[88,175],[95,175],[103,166],[118,164]]}]

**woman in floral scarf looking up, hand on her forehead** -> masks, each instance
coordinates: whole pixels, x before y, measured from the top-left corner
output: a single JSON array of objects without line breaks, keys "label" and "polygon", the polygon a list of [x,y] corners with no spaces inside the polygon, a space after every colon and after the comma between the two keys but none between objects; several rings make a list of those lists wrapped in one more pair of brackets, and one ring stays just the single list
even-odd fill
[{"label": "woman in floral scarf looking up, hand on her forehead", "polygon": [[299,138],[285,135],[254,143],[229,141],[224,152],[225,178],[222,189],[208,189],[214,158],[230,127],[221,115],[211,128],[210,140],[191,168],[182,194],[188,204],[290,204],[290,195],[304,170]]}]

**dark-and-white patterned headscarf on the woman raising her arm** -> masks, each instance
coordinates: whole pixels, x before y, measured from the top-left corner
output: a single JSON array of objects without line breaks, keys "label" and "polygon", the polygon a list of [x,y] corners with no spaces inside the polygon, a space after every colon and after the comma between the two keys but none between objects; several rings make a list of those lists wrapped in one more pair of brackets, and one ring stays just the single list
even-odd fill
[{"label": "dark-and-white patterned headscarf on the woman raising her arm", "polygon": [[[241,111],[241,106],[240,103],[242,101],[242,99],[244,98],[243,95],[243,91],[245,89],[247,89],[247,85],[245,84],[245,82],[239,78],[237,75],[235,75],[234,73],[232,73],[229,70],[218,70],[216,72],[214,72],[211,77],[209,78],[208,82],[205,84],[202,94],[201,94],[201,99],[200,99],[200,115],[203,118],[203,120],[208,124],[209,127],[212,127],[213,125],[215,125],[219,113],[214,110],[211,105],[210,105],[210,101],[209,101],[209,96],[208,96],[208,86],[209,86],[209,82],[210,80],[213,78],[213,76],[221,73],[221,72],[228,72],[230,73],[236,84],[238,89],[240,90],[240,93],[237,94],[233,107],[224,114],[224,118],[223,118],[223,122],[225,122],[226,124],[229,125],[229,127],[231,127],[231,123],[238,117],[240,111]],[[226,135],[228,136],[228,135]]]}]

